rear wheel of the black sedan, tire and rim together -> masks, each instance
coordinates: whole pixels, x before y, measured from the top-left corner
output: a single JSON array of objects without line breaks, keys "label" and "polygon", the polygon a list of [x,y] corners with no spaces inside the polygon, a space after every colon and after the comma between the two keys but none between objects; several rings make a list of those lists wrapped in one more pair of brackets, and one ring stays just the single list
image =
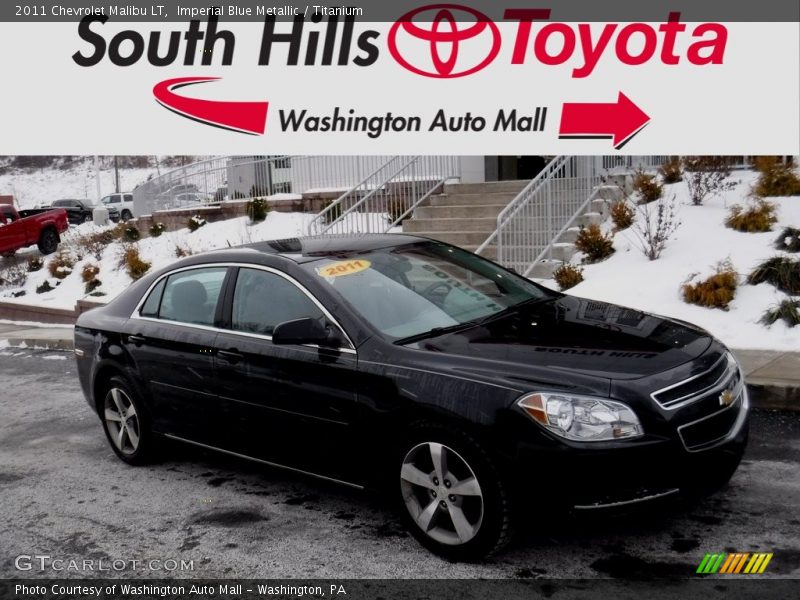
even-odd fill
[{"label": "rear wheel of the black sedan, tire and rim together", "polygon": [[[157,442],[150,429],[144,404],[134,386],[124,377],[114,376],[103,386],[101,393],[98,395],[97,412],[114,454],[129,465],[151,462],[156,455]],[[112,418],[107,410],[116,413],[116,416]],[[124,421],[119,418],[121,414]],[[122,427],[118,424],[122,422],[126,428],[124,433],[121,433]]]}]

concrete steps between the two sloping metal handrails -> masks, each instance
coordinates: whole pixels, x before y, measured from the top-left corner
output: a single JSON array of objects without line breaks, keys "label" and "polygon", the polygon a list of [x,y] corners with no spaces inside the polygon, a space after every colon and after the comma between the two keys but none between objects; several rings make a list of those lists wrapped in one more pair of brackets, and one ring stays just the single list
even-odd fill
[{"label": "concrete steps between the two sloping metal handrails", "polygon": [[[430,237],[474,252],[497,228],[497,215],[528,181],[446,184],[403,222],[404,233]],[[482,253],[494,260],[495,246]]]}]

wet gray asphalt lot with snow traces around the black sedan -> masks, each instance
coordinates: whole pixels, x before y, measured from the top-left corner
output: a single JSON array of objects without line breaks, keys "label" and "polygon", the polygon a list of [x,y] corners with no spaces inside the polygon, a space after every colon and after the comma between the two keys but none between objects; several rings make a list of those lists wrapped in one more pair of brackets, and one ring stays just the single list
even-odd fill
[{"label": "wet gray asphalt lot with snow traces around the black sedan", "polygon": [[[773,552],[766,576],[800,576],[800,413],[755,411],[742,467],[698,506],[538,519],[501,555],[451,564],[367,493],[189,448],[124,465],[74,370],[69,354],[0,351],[0,577],[97,576],[88,564],[144,577],[681,578],[706,552],[739,551]],[[51,558],[20,571],[21,555]]]}]

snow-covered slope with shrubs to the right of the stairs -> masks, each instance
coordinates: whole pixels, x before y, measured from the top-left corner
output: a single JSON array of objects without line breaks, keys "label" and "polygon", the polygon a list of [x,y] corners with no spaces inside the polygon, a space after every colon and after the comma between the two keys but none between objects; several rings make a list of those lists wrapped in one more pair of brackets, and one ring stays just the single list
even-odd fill
[{"label": "snow-covered slope with shrubs to the right of the stairs", "polygon": [[[770,198],[778,206],[778,223],[768,233],[741,233],[724,226],[728,209],[748,200],[756,174],[734,172],[735,189],[693,206],[684,182],[664,186],[675,194],[682,225],[655,261],[640,251],[630,229],[614,237],[616,252],[607,260],[587,265],[585,281],[569,294],[603,300],[647,312],[683,319],[707,329],[732,348],[800,351],[800,327],[779,321],[770,328],[758,323],[764,311],[787,296],[769,284],[746,285],[745,278],[762,260],[777,254],[773,242],[786,226],[800,227],[800,197]],[[794,255],[798,256],[798,255]],[[730,259],[740,275],[729,310],[687,304],[681,285],[699,273],[704,279],[721,260]],[[573,259],[576,262],[576,259]]]}]

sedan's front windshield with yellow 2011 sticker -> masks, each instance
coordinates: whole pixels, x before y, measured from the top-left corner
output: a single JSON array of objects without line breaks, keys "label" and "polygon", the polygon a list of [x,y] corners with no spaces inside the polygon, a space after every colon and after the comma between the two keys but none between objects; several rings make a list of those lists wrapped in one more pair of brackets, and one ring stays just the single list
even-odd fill
[{"label": "sedan's front windshield with yellow 2011 sticker", "polygon": [[550,295],[492,262],[436,242],[347,253],[303,268],[394,340],[457,329]]}]

